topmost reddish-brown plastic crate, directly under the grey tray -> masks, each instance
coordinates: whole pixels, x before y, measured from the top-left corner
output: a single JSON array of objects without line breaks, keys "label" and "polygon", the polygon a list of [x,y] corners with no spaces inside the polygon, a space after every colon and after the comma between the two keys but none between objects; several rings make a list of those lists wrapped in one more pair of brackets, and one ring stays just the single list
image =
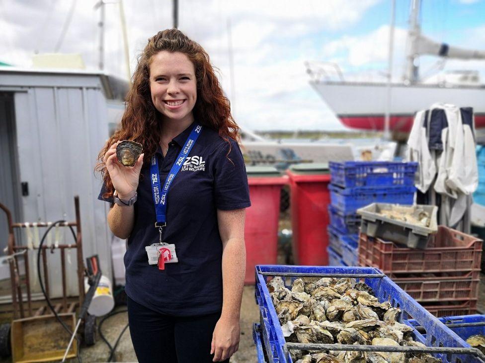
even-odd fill
[{"label": "topmost reddish-brown plastic crate, directly under the grey tray", "polygon": [[438,226],[426,249],[359,235],[359,263],[388,272],[453,272],[480,269],[483,241],[446,226]]}]

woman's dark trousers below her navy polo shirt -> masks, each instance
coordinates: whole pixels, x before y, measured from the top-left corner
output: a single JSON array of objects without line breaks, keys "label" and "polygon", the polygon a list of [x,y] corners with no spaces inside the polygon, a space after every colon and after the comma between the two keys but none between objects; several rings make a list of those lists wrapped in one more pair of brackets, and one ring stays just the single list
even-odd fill
[{"label": "woman's dark trousers below her navy polo shirt", "polygon": [[[212,333],[221,313],[175,317],[127,297],[130,335],[139,363],[209,363]],[[229,359],[224,361],[229,363]]]}]

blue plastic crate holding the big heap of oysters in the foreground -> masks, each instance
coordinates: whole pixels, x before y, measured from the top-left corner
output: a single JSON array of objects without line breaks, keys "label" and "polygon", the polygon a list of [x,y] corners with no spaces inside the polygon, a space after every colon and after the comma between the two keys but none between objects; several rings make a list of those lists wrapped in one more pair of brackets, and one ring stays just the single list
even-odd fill
[{"label": "blue plastic crate holding the big heap of oysters in the foreground", "polygon": [[[376,275],[376,278],[366,278],[365,283],[375,292],[380,302],[389,301],[392,306],[402,310],[400,321],[408,323],[407,320],[415,319],[417,324],[423,326],[426,335],[423,336],[414,329],[414,339],[423,342],[428,347],[461,347],[469,348],[468,344],[452,330],[443,325],[440,320],[431,315],[421,305],[414,301],[408,294],[397,286],[382,272],[372,267],[322,267],[322,266],[284,266],[284,265],[257,265],[256,266],[255,298],[259,305],[261,329],[264,347],[269,362],[293,363],[289,351],[286,348],[285,337],[281,330],[279,320],[274,309],[271,296],[266,282],[271,276],[279,273],[290,274],[369,274]],[[269,274],[269,276],[263,275]],[[296,276],[293,276],[293,278]],[[436,354],[443,362],[473,362],[473,356],[469,355],[444,355]]]}]

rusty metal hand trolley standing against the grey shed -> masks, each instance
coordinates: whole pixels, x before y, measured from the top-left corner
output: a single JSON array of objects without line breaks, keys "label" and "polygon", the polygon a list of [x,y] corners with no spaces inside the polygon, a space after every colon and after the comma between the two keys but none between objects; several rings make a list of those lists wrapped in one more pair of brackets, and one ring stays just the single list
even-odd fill
[{"label": "rusty metal hand trolley standing against the grey shed", "polygon": [[[60,250],[61,259],[61,278],[62,278],[62,297],[60,302],[54,304],[54,310],[58,313],[60,319],[74,330],[76,325],[76,309],[81,307],[84,300],[84,265],[82,260],[82,239],[81,239],[81,216],[79,209],[79,196],[74,197],[76,220],[74,222],[56,223],[60,227],[68,227],[72,230],[76,228],[74,243],[55,243],[50,246],[41,246],[42,255],[42,272],[44,275],[44,286],[46,297],[50,300],[49,287],[49,268],[47,263],[47,252],[54,253],[55,249]],[[51,222],[37,223],[14,223],[8,208],[0,203],[7,216],[8,222],[8,260],[10,265],[10,282],[12,291],[13,321],[11,324],[11,339],[14,346],[13,362],[45,362],[63,357],[64,350],[68,346],[69,337],[63,330],[61,324],[52,314],[47,305],[40,307],[34,306],[30,286],[30,273],[28,250],[34,249],[38,253],[39,246],[17,245],[15,242],[14,229],[23,229],[28,227],[53,227]],[[77,299],[68,299],[67,294],[67,276],[66,276],[66,250],[75,249],[77,254],[77,274],[79,295]],[[68,251],[69,253],[69,251]],[[23,258],[25,274],[20,276],[19,259]],[[40,271],[40,265],[38,266]],[[36,274],[37,271],[34,271]],[[24,289],[22,289],[22,287]],[[24,290],[24,291],[23,291]],[[68,301],[69,300],[69,301]],[[47,303],[47,300],[46,300]],[[10,329],[4,324],[0,328],[0,355],[8,356],[10,343]],[[9,325],[9,324],[8,324]],[[38,334],[35,335],[35,331]],[[84,320],[84,342],[86,345],[93,345],[95,341],[95,316],[87,315]],[[56,334],[57,333],[57,334]],[[5,336],[6,335],[6,336]],[[49,341],[49,336],[55,336],[55,339]],[[35,344],[34,344],[35,343]],[[77,355],[79,347],[74,343],[68,358],[74,358]],[[42,352],[41,352],[42,350]]]}]

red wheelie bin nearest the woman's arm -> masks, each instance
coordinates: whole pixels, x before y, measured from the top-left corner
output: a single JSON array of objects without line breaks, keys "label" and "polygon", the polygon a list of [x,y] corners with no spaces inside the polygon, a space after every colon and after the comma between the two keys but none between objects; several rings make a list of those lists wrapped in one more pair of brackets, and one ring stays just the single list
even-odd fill
[{"label": "red wheelie bin nearest the woman's arm", "polygon": [[281,188],[288,182],[273,167],[246,167],[251,206],[246,208],[244,284],[254,284],[254,267],[276,264]]}]

